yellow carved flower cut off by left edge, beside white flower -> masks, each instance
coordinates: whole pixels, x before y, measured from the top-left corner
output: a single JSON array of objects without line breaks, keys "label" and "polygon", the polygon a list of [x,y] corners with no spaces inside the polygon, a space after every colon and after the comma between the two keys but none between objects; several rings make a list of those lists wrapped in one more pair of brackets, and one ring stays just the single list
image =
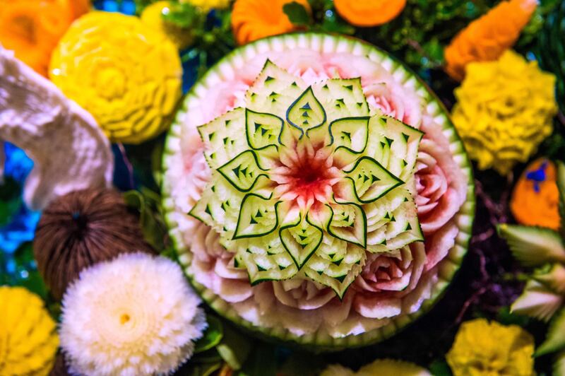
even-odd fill
[{"label": "yellow carved flower cut off by left edge, beside white flower", "polygon": [[0,286],[0,375],[47,375],[59,337],[42,300],[25,288]]}]

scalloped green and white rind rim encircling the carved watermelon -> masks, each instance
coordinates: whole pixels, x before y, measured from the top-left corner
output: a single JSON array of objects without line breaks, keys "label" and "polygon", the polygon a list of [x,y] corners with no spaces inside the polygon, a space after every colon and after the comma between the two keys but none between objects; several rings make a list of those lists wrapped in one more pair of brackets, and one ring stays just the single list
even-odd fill
[{"label": "scalloped green and white rind rim encircling the carved watermelon", "polygon": [[[191,254],[188,247],[182,242],[182,234],[178,229],[177,223],[175,223],[169,216],[169,213],[174,211],[174,206],[171,201],[172,199],[169,196],[169,192],[166,192],[165,190],[167,158],[169,158],[169,155],[173,155],[177,152],[171,145],[172,143],[175,143],[175,140],[178,141],[179,139],[179,130],[182,127],[182,115],[186,112],[187,103],[191,100],[191,98],[195,96],[197,97],[196,90],[198,90],[198,88],[201,88],[201,90],[206,89],[203,88],[204,82],[206,82],[210,77],[213,77],[213,75],[220,77],[223,76],[220,71],[223,64],[234,64],[234,61],[237,59],[245,59],[248,53],[257,54],[270,50],[280,51],[280,47],[273,48],[273,44],[279,46],[283,45],[286,49],[297,47],[313,48],[312,44],[315,44],[319,47],[314,48],[321,49],[326,52],[328,52],[329,48],[331,48],[332,52],[350,52],[357,56],[368,57],[372,61],[382,64],[387,71],[389,71],[403,84],[410,82],[410,86],[413,86],[417,93],[422,95],[424,98],[427,112],[433,114],[435,119],[439,118],[441,120],[439,124],[443,124],[442,132],[450,142],[450,151],[453,154],[456,163],[459,165],[461,170],[463,170],[464,175],[468,178],[467,199],[455,216],[455,221],[459,228],[455,245],[449,250],[446,258],[441,260],[441,262],[436,266],[438,268],[438,281],[432,287],[430,298],[424,300],[422,306],[419,310],[417,310],[417,312],[410,315],[395,317],[392,319],[391,323],[386,324],[383,327],[367,331],[363,334],[352,334],[341,338],[333,338],[328,334],[316,332],[305,336],[297,336],[295,334],[291,334],[284,328],[261,328],[251,324],[251,322],[248,322],[245,319],[242,319],[242,317],[239,317],[234,308],[230,307],[229,303],[222,300],[218,297],[218,295],[215,295],[212,290],[208,290],[205,286],[194,281],[192,276],[187,273],[188,265],[191,262]],[[324,47],[326,44],[328,44],[328,47]],[[174,248],[179,254],[179,261],[184,267],[185,274],[189,277],[189,281],[191,281],[191,284],[198,291],[203,300],[205,300],[208,305],[213,308],[213,310],[218,312],[219,315],[229,319],[234,324],[247,329],[256,336],[269,341],[284,341],[291,346],[306,347],[314,351],[339,351],[344,348],[368,346],[371,343],[383,341],[384,339],[393,336],[393,334],[400,329],[404,329],[411,322],[414,322],[417,317],[420,317],[420,315],[429,311],[444,295],[449,282],[453,279],[453,276],[455,276],[456,271],[458,271],[459,266],[463,261],[463,257],[467,252],[472,233],[472,223],[475,216],[475,184],[472,173],[472,165],[465,153],[463,143],[455,127],[453,127],[451,119],[448,117],[446,108],[439,98],[432,93],[424,81],[422,81],[422,79],[420,79],[410,69],[403,66],[400,61],[389,56],[378,47],[354,37],[323,33],[293,33],[268,37],[238,49],[234,49],[234,51],[227,54],[224,59],[218,61],[218,64],[215,64],[215,66],[210,68],[203,78],[201,78],[201,80],[198,81],[198,83],[196,83],[196,85],[192,88],[191,92],[186,95],[186,98],[184,98],[182,107],[179,112],[177,112],[171,129],[169,129],[167,134],[167,140],[165,141],[165,148],[162,155],[162,169],[162,204],[166,213],[165,220],[167,221],[169,228],[169,235],[174,243]]]}]

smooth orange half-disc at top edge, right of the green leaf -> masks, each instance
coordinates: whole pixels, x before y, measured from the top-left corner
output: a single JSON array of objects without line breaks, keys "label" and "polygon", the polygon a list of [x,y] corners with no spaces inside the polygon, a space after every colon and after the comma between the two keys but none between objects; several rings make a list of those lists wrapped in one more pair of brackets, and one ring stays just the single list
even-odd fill
[{"label": "smooth orange half-disc at top edge, right of the green leaf", "polygon": [[355,26],[376,26],[393,20],[403,11],[406,0],[335,0],[335,10]]}]

